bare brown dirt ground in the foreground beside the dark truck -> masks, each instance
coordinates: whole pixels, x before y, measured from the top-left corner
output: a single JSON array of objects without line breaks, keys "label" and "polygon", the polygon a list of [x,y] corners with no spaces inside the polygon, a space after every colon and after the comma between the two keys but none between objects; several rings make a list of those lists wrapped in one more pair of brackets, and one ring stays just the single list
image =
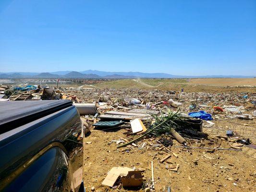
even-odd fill
[{"label": "bare brown dirt ground in the foreground beside the dark truck", "polygon": [[[158,151],[149,143],[155,144],[155,139],[144,139],[145,149],[128,146],[117,149],[111,140],[118,136],[125,137],[124,130],[108,132],[91,130],[91,134],[84,140],[84,180],[85,186],[90,191],[94,186],[98,192],[126,191],[123,188],[111,189],[102,186],[101,182],[112,167],[144,168],[144,178],[151,179],[150,162],[154,162],[155,189],[162,191],[164,186],[171,186],[172,192],[255,192],[256,191],[256,150],[242,147],[242,151],[211,151],[198,149],[184,149],[168,147],[168,150]],[[207,132],[207,130],[203,130]],[[88,142],[89,144],[87,144]],[[208,146],[230,148],[232,142],[221,139],[212,141],[188,142],[191,146]],[[173,145],[180,145],[174,141]],[[160,153],[159,153],[160,152]],[[178,171],[166,169],[166,164],[159,160],[168,154],[175,153],[178,157],[171,156],[168,160],[175,166],[179,164]],[[157,154],[158,153],[158,154]],[[155,154],[157,154],[155,156]],[[161,155],[160,155],[161,154]],[[129,191],[129,190],[128,190]],[[140,189],[138,191],[143,191]]]}]

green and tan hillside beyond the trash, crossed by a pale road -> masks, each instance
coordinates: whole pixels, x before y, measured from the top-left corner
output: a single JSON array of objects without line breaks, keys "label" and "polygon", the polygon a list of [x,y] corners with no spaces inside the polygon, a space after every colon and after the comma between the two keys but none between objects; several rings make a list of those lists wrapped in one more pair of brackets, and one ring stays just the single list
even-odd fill
[{"label": "green and tan hillside beyond the trash, crossed by a pale road", "polygon": [[[230,85],[231,88],[227,88]],[[162,89],[186,92],[256,92],[255,87],[232,87],[252,85],[256,86],[256,79],[122,79],[110,82],[85,85],[93,88],[139,88]]]}]

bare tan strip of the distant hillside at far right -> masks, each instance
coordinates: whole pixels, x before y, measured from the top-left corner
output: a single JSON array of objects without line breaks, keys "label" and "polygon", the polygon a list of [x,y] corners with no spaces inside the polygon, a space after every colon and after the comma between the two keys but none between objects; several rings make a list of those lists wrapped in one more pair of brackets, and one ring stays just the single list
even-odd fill
[{"label": "bare tan strip of the distant hillside at far right", "polygon": [[219,86],[244,86],[251,85],[256,86],[256,78],[209,78],[209,79],[190,79],[190,84],[207,84],[207,85],[219,85]]}]

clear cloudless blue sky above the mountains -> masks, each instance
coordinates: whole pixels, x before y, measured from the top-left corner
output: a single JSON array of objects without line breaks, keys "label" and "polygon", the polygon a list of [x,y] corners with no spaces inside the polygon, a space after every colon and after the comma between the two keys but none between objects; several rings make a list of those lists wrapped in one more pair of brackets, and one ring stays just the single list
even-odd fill
[{"label": "clear cloudless blue sky above the mountains", "polygon": [[0,72],[256,75],[256,0],[0,0]]}]

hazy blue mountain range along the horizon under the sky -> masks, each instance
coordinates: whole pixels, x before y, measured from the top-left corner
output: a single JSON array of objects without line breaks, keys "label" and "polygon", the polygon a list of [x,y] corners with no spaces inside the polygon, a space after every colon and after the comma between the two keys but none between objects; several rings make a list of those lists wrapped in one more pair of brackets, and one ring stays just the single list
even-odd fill
[{"label": "hazy blue mountain range along the horizon under the sky", "polygon": [[58,71],[58,72],[0,72],[0,78],[109,78],[109,79],[131,79],[131,78],[253,78],[255,76],[243,75],[205,75],[185,76],[172,75],[168,73],[145,73],[145,72],[103,72],[87,70],[82,72]]}]

